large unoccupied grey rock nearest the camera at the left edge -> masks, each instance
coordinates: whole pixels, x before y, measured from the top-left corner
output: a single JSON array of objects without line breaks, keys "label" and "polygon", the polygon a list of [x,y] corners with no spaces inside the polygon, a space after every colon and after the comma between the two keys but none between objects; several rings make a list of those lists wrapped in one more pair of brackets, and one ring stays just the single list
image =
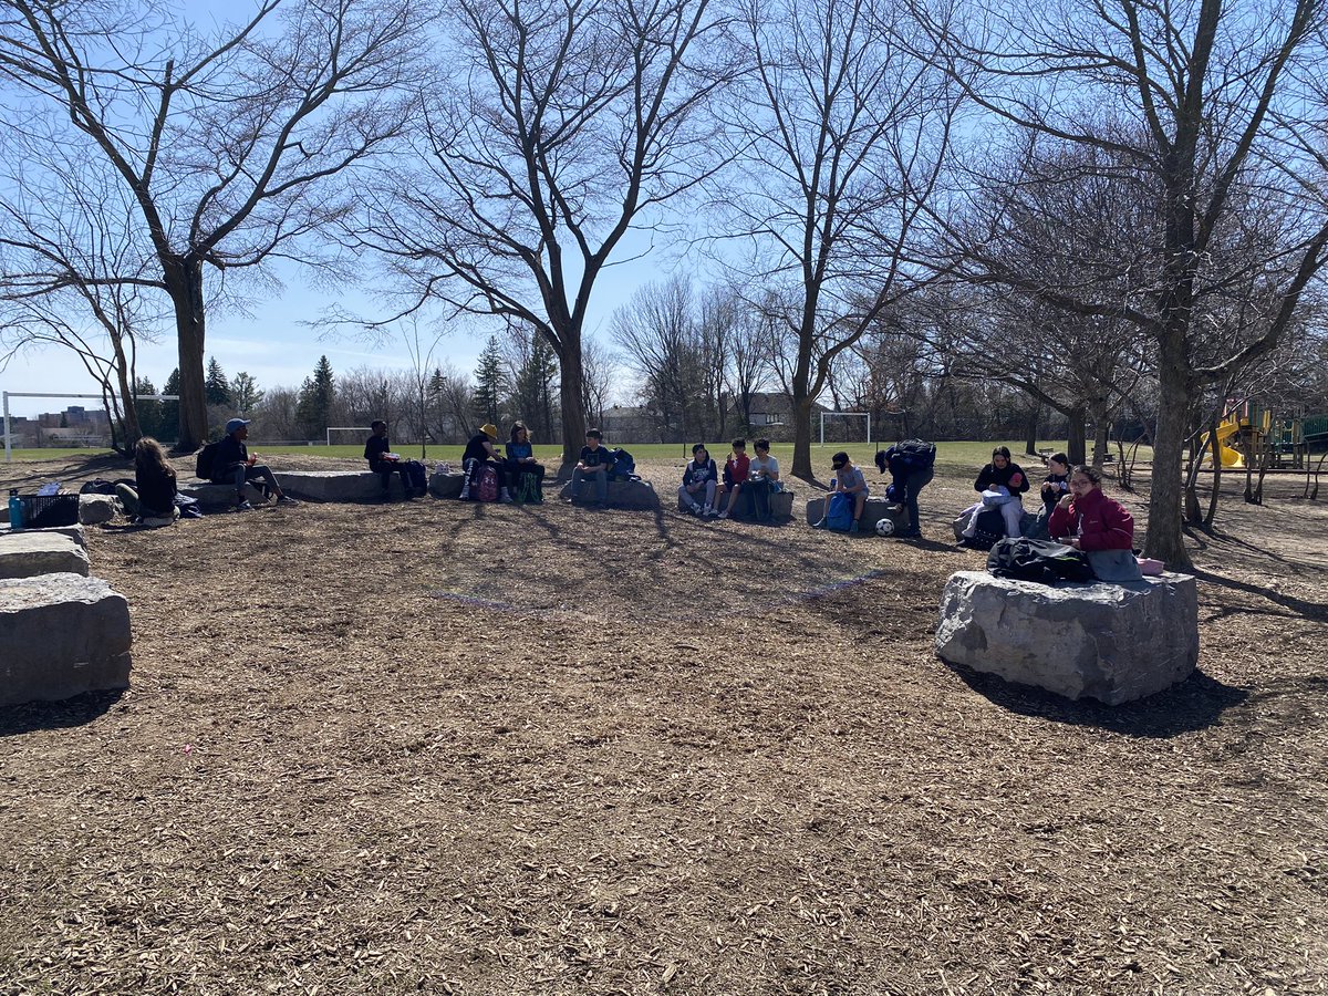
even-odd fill
[{"label": "large unoccupied grey rock nearest the camera at the left edge", "polygon": [[129,603],[98,578],[0,580],[0,705],[129,687]]}]

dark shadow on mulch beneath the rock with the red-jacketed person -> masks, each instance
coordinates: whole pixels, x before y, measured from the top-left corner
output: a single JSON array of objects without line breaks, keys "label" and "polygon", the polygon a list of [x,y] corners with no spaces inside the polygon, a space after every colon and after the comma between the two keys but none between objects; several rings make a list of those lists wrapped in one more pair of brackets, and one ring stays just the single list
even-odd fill
[{"label": "dark shadow on mulch beneath the rock with the red-jacketed person", "polygon": [[[939,659],[938,659],[939,660]],[[1243,688],[1223,684],[1202,671],[1147,699],[1122,705],[1105,705],[1092,699],[1072,701],[1032,685],[1007,681],[961,664],[942,660],[971,689],[995,705],[1052,722],[1093,726],[1127,737],[1166,740],[1182,733],[1207,729],[1222,714],[1250,699]]]}]

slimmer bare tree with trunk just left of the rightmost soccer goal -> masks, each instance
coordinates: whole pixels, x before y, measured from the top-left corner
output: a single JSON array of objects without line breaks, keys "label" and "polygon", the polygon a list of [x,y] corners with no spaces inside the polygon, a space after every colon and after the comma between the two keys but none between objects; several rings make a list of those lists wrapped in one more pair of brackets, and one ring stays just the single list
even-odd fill
[{"label": "slimmer bare tree with trunk just left of the rightmost soccer goal", "polygon": [[888,0],[746,0],[742,28],[756,74],[728,117],[744,179],[721,203],[752,246],[749,282],[788,305],[791,473],[810,478],[811,405],[911,286],[902,263],[956,105]]}]

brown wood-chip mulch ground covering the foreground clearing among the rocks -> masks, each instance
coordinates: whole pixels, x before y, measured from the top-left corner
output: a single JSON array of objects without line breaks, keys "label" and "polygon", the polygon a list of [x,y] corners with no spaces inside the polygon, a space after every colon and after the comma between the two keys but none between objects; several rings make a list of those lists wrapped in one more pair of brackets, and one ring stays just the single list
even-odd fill
[{"label": "brown wood-chip mulch ground covering the foreground clearing among the rocks", "polygon": [[0,709],[0,992],[1328,992],[1299,489],[1195,537],[1199,672],[1114,709],[934,656],[957,475],[915,543],[669,501],[90,529],[133,688]]}]

